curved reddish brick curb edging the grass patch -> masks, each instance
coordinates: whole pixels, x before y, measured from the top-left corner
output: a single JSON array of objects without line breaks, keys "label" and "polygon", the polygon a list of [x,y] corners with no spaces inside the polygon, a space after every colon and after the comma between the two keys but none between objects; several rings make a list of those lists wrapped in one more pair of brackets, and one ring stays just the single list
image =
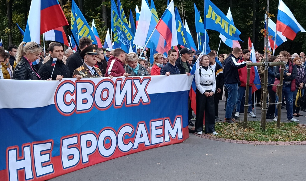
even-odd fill
[{"label": "curved reddish brick curb edging the grass patch", "polygon": [[[306,126],[304,124],[300,124],[301,126]],[[247,141],[247,140],[234,140],[234,139],[224,139],[218,138],[212,134],[203,133],[203,135],[198,135],[197,133],[193,133],[196,136],[201,138],[222,141],[228,143],[240,143],[240,144],[252,144],[252,145],[306,145],[306,141]]]}]

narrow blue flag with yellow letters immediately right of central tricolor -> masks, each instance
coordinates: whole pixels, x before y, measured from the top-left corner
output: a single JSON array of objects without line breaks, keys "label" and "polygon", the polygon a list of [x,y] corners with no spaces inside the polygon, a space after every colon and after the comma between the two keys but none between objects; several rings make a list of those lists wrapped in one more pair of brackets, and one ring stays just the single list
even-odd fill
[{"label": "narrow blue flag with yellow letters immediately right of central tricolor", "polygon": [[176,28],[177,28],[177,42],[179,45],[183,45],[191,49],[191,46],[187,38],[187,32],[183,26],[183,22],[181,20],[180,14],[178,13],[177,7],[175,7],[174,13],[175,13]]}]

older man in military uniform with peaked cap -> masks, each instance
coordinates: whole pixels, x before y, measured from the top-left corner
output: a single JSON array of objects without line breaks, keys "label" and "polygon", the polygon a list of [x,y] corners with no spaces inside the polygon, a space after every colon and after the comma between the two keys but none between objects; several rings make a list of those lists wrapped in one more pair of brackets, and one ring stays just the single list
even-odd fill
[{"label": "older man in military uniform with peaked cap", "polygon": [[80,56],[83,58],[84,63],[74,70],[73,77],[76,77],[76,75],[80,75],[84,78],[103,77],[101,70],[95,67],[97,63],[97,49],[98,45],[92,44],[80,52]]}]

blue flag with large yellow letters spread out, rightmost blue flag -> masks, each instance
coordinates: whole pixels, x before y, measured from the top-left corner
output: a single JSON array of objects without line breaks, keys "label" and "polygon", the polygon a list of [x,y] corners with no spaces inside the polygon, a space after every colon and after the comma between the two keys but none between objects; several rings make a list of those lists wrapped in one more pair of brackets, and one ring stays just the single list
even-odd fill
[{"label": "blue flag with large yellow letters spread out, rightmost blue flag", "polygon": [[[240,40],[241,32],[210,0],[205,0],[205,29],[215,30],[231,40]],[[242,41],[243,42],[243,41]]]}]

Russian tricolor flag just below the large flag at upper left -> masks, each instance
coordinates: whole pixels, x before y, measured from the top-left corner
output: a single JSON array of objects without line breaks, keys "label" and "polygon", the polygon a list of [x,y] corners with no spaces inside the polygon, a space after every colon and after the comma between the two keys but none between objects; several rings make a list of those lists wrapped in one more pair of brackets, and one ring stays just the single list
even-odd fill
[{"label": "Russian tricolor flag just below the large flag at upper left", "polygon": [[45,33],[45,40],[60,42],[60,43],[63,43],[69,46],[68,39],[66,37],[63,27],[58,27],[58,28],[55,28],[54,30],[47,31]]}]

